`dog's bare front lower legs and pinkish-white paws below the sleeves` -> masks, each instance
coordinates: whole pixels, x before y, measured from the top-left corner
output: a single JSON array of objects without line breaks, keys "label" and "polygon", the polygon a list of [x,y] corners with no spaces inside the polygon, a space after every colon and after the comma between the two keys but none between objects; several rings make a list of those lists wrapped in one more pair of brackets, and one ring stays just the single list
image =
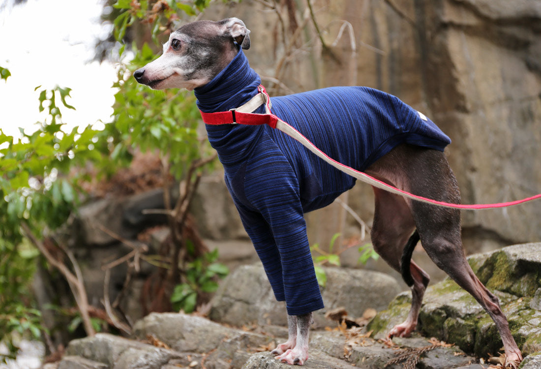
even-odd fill
[{"label": "dog's bare front lower legs and pinkish-white paws below the sleeves", "polygon": [[[288,315],[289,338],[287,342],[278,345],[272,351],[274,354],[279,354],[275,359],[287,364],[303,365],[308,359],[308,335],[312,323],[312,313]],[[280,354],[279,351],[282,353]]]}]

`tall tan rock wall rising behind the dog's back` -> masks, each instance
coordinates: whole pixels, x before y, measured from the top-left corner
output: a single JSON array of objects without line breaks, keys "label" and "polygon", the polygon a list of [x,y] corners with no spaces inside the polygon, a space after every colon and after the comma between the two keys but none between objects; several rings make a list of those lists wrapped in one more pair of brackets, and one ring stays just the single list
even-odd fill
[{"label": "tall tan rock wall rising behind the dog's back", "polygon": [[[287,58],[281,76],[275,76],[275,64],[283,54],[276,42],[282,25],[272,11],[259,2],[227,8],[216,4],[204,17],[235,16],[246,22],[253,41],[246,51],[250,64],[263,76],[278,77],[288,88],[280,88],[277,95],[329,85],[366,85],[396,95],[430,116],[453,141],[446,153],[463,203],[509,201],[541,193],[541,6],[537,0],[312,3],[335,58],[321,52],[315,41],[318,35],[307,26],[301,32],[306,37],[299,39],[302,48]],[[303,11],[296,11],[298,22]],[[288,14],[284,8],[282,12],[287,34]],[[352,24],[352,33],[343,32],[335,43],[342,20]],[[263,83],[272,87],[265,78]],[[359,183],[341,199],[370,225],[370,186]],[[463,212],[466,251],[480,253],[539,241],[539,219],[539,202]],[[357,223],[336,203],[307,214],[307,225],[311,244],[326,246],[337,232],[344,238],[359,234]],[[353,266],[355,256],[342,262]],[[423,254],[414,257],[433,281],[445,277]],[[383,261],[371,262],[371,267],[390,272]]]}]

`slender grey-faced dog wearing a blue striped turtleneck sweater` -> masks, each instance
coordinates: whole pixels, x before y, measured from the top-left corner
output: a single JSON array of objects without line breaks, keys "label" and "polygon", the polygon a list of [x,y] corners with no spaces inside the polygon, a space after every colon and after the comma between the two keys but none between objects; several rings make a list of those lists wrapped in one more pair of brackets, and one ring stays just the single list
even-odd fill
[{"label": "slender grey-faced dog wearing a blue striped turtleneck sweater", "polygon": [[[237,18],[196,21],[170,34],[163,54],[134,72],[153,89],[194,90],[203,113],[236,109],[258,94],[259,75],[249,67],[249,30]],[[448,137],[397,97],[362,87],[335,87],[272,97],[273,114],[292,124],[334,160],[408,192],[460,203],[457,180],[443,153]],[[261,114],[263,107],[254,108]],[[234,116],[234,112],[233,112]],[[308,359],[312,312],[323,306],[306,236],[304,213],[321,208],[355,180],[332,168],[268,126],[206,124],[210,144],[278,301],[285,301],[289,337],[272,353],[288,364]],[[375,188],[371,238],[375,251],[411,287],[405,322],[389,337],[407,337],[417,326],[430,277],[411,261],[420,240],[436,265],[490,314],[516,367],[522,354],[498,298],[466,261],[457,209],[404,199]]]}]

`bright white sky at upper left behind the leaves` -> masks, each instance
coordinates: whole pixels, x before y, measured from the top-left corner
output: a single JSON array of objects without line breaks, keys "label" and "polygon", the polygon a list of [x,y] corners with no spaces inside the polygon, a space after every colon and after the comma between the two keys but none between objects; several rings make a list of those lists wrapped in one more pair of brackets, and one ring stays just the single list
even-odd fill
[{"label": "bright white sky at upper left behind the leaves", "polygon": [[[70,87],[63,109],[69,127],[110,121],[116,79],[110,63],[92,62],[96,37],[104,35],[99,22],[100,0],[28,0],[0,12],[0,65],[8,68],[8,81],[0,80],[0,128],[18,136],[18,127],[31,133],[43,121],[38,112],[39,91],[55,85]],[[34,91],[38,85],[42,88]],[[60,101],[58,101],[60,103]]]}]

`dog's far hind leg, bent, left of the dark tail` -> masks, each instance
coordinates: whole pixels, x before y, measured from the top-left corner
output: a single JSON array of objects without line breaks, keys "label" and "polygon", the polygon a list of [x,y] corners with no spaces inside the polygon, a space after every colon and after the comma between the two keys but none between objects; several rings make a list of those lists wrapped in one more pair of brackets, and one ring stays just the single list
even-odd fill
[{"label": "dog's far hind leg, bent, left of the dark tail", "polygon": [[[410,207],[400,196],[374,188],[375,213],[371,238],[374,250],[396,271],[404,246],[415,227]],[[414,246],[414,245],[413,245]],[[406,321],[394,326],[389,337],[407,337],[417,326],[417,318],[430,277],[413,261],[410,263],[412,305]]]}]

